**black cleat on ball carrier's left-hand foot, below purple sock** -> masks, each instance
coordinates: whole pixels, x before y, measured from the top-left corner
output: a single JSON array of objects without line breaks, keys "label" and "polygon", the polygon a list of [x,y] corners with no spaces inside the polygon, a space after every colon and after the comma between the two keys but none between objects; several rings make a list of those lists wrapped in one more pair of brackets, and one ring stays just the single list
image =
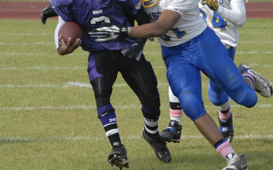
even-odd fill
[{"label": "black cleat on ball carrier's left-hand foot, below purple sock", "polygon": [[116,165],[119,169],[129,168],[129,160],[124,145],[113,145],[113,150],[108,154],[107,159],[111,166]]}]

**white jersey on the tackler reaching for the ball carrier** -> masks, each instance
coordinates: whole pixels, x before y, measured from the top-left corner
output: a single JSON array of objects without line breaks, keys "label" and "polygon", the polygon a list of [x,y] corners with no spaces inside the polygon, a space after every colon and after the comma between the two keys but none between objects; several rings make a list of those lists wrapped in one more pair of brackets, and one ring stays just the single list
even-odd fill
[{"label": "white jersey on the tackler reaching for the ball carrier", "polygon": [[145,8],[151,22],[156,22],[164,10],[176,11],[181,18],[158,42],[166,47],[180,45],[201,34],[207,24],[199,14],[198,0],[160,0],[152,7]]}]

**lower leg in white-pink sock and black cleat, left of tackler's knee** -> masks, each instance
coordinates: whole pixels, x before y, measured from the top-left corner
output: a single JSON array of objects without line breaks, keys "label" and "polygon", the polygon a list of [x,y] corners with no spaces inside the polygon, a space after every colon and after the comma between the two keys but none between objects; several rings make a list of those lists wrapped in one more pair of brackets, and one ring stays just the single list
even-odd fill
[{"label": "lower leg in white-pink sock and black cleat, left of tackler's knee", "polygon": [[169,86],[169,101],[170,101],[170,122],[167,128],[165,128],[160,136],[163,137],[167,142],[180,142],[181,138],[181,117],[182,107],[179,103],[178,98],[173,95],[173,92]]}]

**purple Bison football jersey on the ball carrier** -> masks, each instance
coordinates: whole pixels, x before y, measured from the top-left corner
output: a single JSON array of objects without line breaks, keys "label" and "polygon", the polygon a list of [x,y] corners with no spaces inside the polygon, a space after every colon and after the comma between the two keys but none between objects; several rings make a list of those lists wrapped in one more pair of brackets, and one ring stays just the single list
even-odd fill
[{"label": "purple Bison football jersey on the ball carrier", "polygon": [[134,16],[141,9],[140,0],[51,0],[55,12],[65,22],[76,22],[83,31],[81,47],[85,51],[120,50],[133,44],[136,39],[116,39],[96,42],[88,34],[103,22],[130,26],[127,16]]}]

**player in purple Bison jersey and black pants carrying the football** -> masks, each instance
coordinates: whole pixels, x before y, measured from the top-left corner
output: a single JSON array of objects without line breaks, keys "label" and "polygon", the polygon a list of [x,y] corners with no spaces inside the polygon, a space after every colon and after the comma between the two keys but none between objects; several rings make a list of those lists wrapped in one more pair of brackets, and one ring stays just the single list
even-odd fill
[{"label": "player in purple Bison jersey and black pants carrying the football", "polygon": [[[141,1],[51,0],[50,2],[51,6],[43,10],[41,19],[45,22],[46,17],[51,16],[52,8],[59,16],[55,29],[57,52],[60,55],[69,54],[79,45],[83,50],[89,51],[87,71],[95,93],[98,118],[113,147],[108,155],[111,165],[116,165],[120,169],[129,167],[126,149],[119,137],[115,109],[110,103],[112,86],[118,72],[122,74],[142,104],[141,110],[145,119],[143,137],[153,147],[158,159],[165,163],[170,162],[170,151],[158,132],[160,99],[157,79],[150,62],[142,53],[147,39],[125,38],[111,42],[97,42],[88,34],[94,28],[103,26],[102,23],[125,25],[125,28],[129,27],[132,21],[134,23],[134,20],[139,25],[149,23],[149,16],[141,9]],[[127,16],[130,17],[129,20]],[[83,38],[80,41],[77,40],[73,45],[70,45],[70,38],[65,46],[61,42],[61,36],[58,37],[58,30],[62,24],[70,21],[80,25]]]}]

